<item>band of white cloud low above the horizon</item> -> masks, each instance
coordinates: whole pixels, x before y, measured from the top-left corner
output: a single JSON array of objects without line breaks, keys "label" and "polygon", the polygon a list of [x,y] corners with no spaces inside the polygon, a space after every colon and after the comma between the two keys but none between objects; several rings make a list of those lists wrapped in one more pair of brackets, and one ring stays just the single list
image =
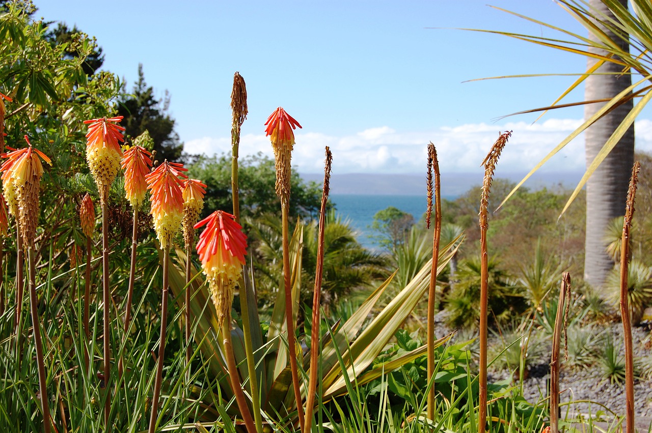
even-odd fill
[{"label": "band of white cloud low above the horizon", "polygon": [[[319,132],[299,132],[293,152],[293,165],[303,173],[323,171],[324,147],[333,152],[333,173],[423,173],[426,145],[432,141],[443,173],[480,172],[480,163],[499,132],[512,130],[498,170],[529,171],[541,161],[582,120],[549,119],[544,122],[503,122],[501,124],[463,124],[430,131],[400,132],[389,126],[370,128],[341,137]],[[636,122],[637,148],[652,151],[652,121]],[[230,152],[230,138],[203,137],[187,141],[186,152],[220,154]],[[269,137],[248,134],[241,137],[240,154],[273,157]],[[542,171],[582,171],[584,169],[582,135],[554,156]]]}]

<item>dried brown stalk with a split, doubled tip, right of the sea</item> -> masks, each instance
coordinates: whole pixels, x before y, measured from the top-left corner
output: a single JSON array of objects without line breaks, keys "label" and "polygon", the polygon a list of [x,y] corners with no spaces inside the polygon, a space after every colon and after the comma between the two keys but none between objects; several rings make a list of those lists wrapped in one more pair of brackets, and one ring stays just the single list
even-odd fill
[{"label": "dried brown stalk with a split, doubled tip, right of the sea", "polygon": [[[433,185],[434,173],[434,185]],[[426,228],[430,229],[432,216],[432,197],[435,198],[435,230],[432,236],[432,268],[430,268],[430,287],[428,288],[428,384],[435,374],[435,301],[437,288],[437,261],[439,260],[439,239],[441,238],[441,176],[437,150],[432,142],[428,145],[428,207],[426,211]],[[433,190],[434,189],[434,190]],[[435,419],[435,384],[428,390],[428,419]]]}]

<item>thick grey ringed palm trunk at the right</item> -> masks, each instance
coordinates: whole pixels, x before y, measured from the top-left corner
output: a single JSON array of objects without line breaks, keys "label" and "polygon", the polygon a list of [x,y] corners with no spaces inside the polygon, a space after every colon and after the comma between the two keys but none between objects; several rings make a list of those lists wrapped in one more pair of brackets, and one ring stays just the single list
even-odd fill
[{"label": "thick grey ringed palm trunk at the right", "polygon": [[[619,0],[627,5],[627,0]],[[600,0],[590,0],[591,8],[603,14],[614,15]],[[600,16],[597,14],[597,16]],[[627,40],[608,33],[614,40],[618,40],[621,48],[629,51]],[[591,40],[595,36],[589,35]],[[606,51],[592,49],[595,53],[606,54]],[[588,66],[596,63],[596,59],[588,59]],[[614,63],[606,63],[597,72],[606,75],[593,75],[585,81],[585,100],[612,98],[619,92],[627,89],[632,83],[629,75],[615,75],[623,71],[623,67]],[[588,119],[603,104],[585,105],[584,117]],[[604,143],[614,132],[615,128],[632,109],[632,102],[620,105],[608,115],[602,117],[591,125],[585,132],[585,154],[587,167],[591,164]],[[634,163],[634,128],[630,128],[616,145],[614,150],[599,165],[598,169],[589,178],[586,184],[586,241],[584,258],[584,279],[594,288],[601,288],[607,273],[614,268],[613,260],[606,253],[604,235],[609,221],[625,214],[625,200],[627,187]]]}]

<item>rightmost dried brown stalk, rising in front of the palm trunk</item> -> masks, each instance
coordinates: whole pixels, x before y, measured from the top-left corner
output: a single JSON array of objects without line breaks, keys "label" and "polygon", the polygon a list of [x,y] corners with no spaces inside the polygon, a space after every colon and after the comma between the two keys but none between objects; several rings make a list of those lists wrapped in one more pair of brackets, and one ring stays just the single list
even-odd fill
[{"label": "rightmost dried brown stalk, rising in front of the palm trunk", "polygon": [[634,199],[636,184],[641,165],[638,161],[632,167],[632,177],[627,191],[625,219],[623,221],[623,236],[620,246],[620,316],[623,320],[623,339],[625,340],[625,399],[627,412],[627,428],[625,432],[634,433],[634,348],[632,344],[632,316],[629,309],[629,287],[627,285],[627,270],[629,268],[629,233],[634,218]]}]

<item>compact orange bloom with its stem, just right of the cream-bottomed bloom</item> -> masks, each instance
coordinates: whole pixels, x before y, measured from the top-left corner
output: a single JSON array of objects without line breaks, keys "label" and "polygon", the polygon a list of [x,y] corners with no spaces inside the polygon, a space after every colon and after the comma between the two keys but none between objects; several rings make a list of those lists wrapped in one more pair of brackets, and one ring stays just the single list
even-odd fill
[{"label": "compact orange bloom with its stem, just right of the cream-bottomed bloom", "polygon": [[[131,235],[131,263],[129,268],[129,286],[126,292],[125,305],[125,338],[129,329],[131,305],[134,299],[134,281],[136,280],[136,249],[138,247],[138,210],[145,201],[147,182],[145,176],[152,167],[152,154],[142,146],[134,145],[125,150],[125,159],[121,162],[125,171],[125,196],[134,210]],[[123,360],[118,363],[118,374],[122,376]]]}]

